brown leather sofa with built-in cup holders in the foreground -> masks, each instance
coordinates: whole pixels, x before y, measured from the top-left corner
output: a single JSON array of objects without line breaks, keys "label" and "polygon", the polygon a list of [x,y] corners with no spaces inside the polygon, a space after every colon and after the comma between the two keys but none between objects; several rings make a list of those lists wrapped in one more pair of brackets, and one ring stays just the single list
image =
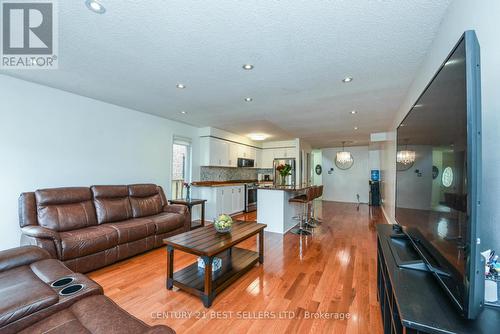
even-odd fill
[{"label": "brown leather sofa with built-in cup holders in the foreground", "polygon": [[[53,284],[61,278],[70,283]],[[78,284],[83,288],[64,294]],[[35,246],[0,252],[0,333],[174,333],[134,318],[86,276]]]}]

